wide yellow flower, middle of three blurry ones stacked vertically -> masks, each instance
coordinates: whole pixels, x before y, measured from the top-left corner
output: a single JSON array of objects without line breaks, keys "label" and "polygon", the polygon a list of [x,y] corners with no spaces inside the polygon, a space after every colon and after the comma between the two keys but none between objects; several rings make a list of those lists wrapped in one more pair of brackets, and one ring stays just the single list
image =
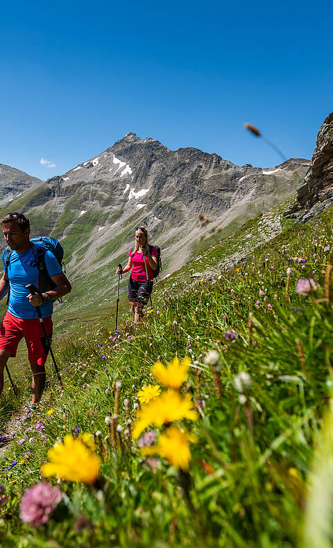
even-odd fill
[{"label": "wide yellow flower, middle of three blurry ones stacked vertically", "polygon": [[185,396],[174,390],[168,390],[144,405],[137,413],[133,426],[133,438],[139,438],[142,431],[149,425],[162,426],[168,422],[188,418],[196,420],[197,414],[192,409],[191,396]]}]

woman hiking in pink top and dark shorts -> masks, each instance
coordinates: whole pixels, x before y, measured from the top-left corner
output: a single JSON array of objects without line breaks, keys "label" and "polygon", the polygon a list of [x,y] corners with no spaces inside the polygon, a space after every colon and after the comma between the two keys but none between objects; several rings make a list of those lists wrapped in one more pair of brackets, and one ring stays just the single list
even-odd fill
[{"label": "woman hiking in pink top and dark shorts", "polygon": [[116,274],[132,270],[128,282],[128,300],[134,312],[134,322],[142,320],[143,308],[153,291],[153,271],[157,268],[157,250],[148,244],[148,232],[144,226],[135,229],[135,248],[130,248],[128,263],[120,266]]}]

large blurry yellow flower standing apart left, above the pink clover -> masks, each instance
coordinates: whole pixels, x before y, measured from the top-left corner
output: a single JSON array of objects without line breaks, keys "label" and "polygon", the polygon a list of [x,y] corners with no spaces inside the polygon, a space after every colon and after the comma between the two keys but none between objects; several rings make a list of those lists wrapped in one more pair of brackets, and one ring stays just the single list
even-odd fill
[{"label": "large blurry yellow flower standing apart left, above the pink clover", "polygon": [[99,476],[99,458],[89,434],[78,438],[65,436],[47,453],[51,462],[42,466],[44,477],[57,476],[67,481],[82,481],[92,485]]}]

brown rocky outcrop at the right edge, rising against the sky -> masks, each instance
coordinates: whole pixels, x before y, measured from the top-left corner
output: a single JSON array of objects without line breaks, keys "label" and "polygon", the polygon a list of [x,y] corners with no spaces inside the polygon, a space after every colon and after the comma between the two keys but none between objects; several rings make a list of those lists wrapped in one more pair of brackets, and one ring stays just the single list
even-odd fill
[{"label": "brown rocky outcrop at the right edge, rising against the sky", "polygon": [[286,216],[300,223],[309,221],[333,204],[333,112],[327,116],[317,135],[314,154],[305,184]]}]

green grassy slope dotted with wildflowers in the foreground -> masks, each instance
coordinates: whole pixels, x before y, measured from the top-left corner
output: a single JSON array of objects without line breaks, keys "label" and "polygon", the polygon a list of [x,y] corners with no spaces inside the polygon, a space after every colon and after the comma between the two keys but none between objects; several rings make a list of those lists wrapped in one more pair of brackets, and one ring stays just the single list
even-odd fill
[{"label": "green grassy slope dotted with wildflowers in the foreground", "polygon": [[[275,208],[272,216],[280,218],[281,209]],[[66,546],[102,547],[107,538],[117,546],[137,547],[296,546],[314,444],[330,396],[333,314],[324,299],[325,291],[329,294],[325,275],[330,252],[323,248],[332,248],[332,218],[327,210],[262,245],[269,226],[261,216],[248,221],[157,285],[154,311],[135,336],[133,326],[124,321],[112,341],[113,325],[105,318],[64,339],[57,354],[64,366],[64,392],[53,376],[37,414],[45,423],[46,438],[36,433],[35,443],[29,444],[31,434],[22,427],[1,463],[10,497],[2,509],[6,533],[1,542],[58,547],[66,538]],[[230,255],[233,262],[248,257],[226,268]],[[301,264],[296,257],[307,262]],[[293,268],[289,282],[287,268]],[[193,272],[203,273],[203,281],[194,282]],[[319,288],[310,297],[300,297],[295,284],[307,276],[313,276]],[[215,372],[204,361],[211,349],[219,352]],[[153,382],[150,366],[158,356],[167,363],[176,353],[191,357],[187,389],[194,392],[195,402],[205,402],[196,422],[182,421],[198,436],[192,446],[189,491],[184,477],[164,459],[152,470],[136,445],[118,455],[107,447],[101,468],[103,495],[96,498],[81,484],[62,482],[69,497],[67,517],[56,516],[49,529],[21,524],[21,481],[24,488],[37,481],[56,438],[74,427],[101,430],[107,438],[104,418],[112,414],[118,378],[123,382],[119,422],[125,428],[123,398],[130,401],[133,414],[137,391]],[[250,375],[242,398],[234,381],[241,370]],[[23,386],[22,402],[28,397]],[[3,404],[8,411],[15,406],[10,392]],[[50,407],[54,413],[47,416]],[[19,445],[19,438],[26,441]],[[31,455],[25,458],[27,449]],[[8,472],[6,461],[19,464]],[[80,513],[89,524],[78,532],[74,522]]]}]

